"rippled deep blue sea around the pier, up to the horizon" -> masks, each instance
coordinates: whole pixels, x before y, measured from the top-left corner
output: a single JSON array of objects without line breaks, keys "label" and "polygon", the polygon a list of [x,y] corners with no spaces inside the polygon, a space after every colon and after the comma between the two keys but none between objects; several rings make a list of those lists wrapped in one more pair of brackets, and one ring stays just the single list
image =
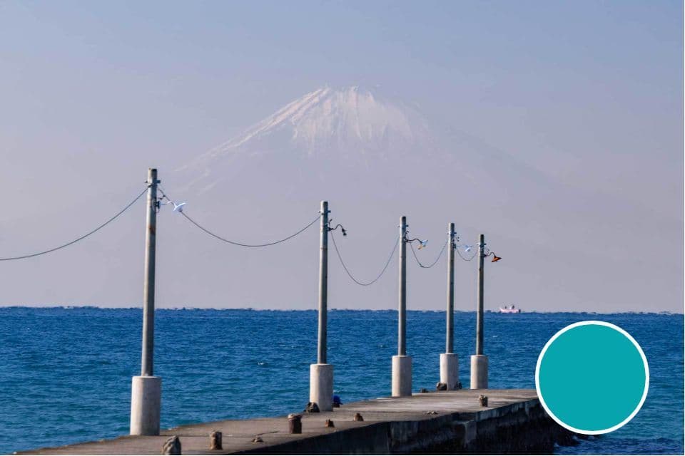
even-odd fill
[{"label": "rippled deep blue sea around the pier, up to the horizon", "polygon": [[[0,453],[128,432],[131,376],[140,371],[140,309],[0,308]],[[162,426],[283,415],[308,401],[315,311],[158,310],[155,373]],[[683,316],[485,314],[491,388],[534,388],[537,356],[559,329],[602,320],[631,333],[651,374],[631,423],[559,454],[683,454]],[[455,314],[455,351],[468,385],[475,314]],[[435,387],[445,314],[410,311],[414,388]],[[328,361],[343,402],[390,394],[397,312],[331,311]]]}]

